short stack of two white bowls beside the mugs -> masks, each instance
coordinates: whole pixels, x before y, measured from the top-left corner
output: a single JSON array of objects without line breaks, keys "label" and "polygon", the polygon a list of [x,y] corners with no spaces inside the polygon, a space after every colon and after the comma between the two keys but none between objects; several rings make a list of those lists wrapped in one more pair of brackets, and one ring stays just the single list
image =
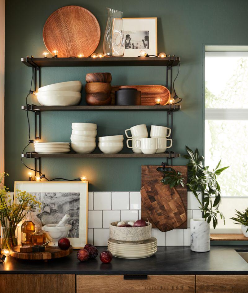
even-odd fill
[{"label": "short stack of two white bowls beside the mugs", "polygon": [[123,149],[123,135],[101,136],[98,147],[104,154],[117,154]]}]

